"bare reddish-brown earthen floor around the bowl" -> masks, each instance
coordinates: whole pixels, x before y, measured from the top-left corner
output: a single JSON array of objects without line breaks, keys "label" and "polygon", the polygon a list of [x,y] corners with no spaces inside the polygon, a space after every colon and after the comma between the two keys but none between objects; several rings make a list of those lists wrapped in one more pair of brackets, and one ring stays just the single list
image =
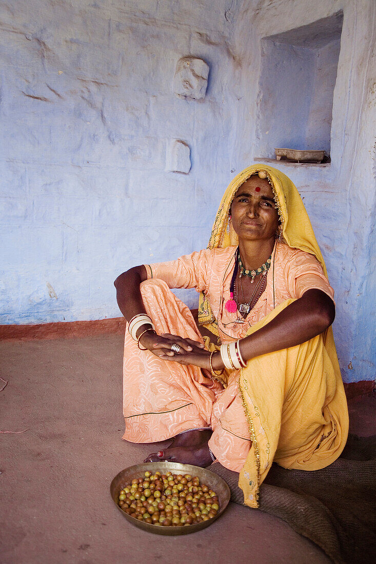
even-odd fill
[{"label": "bare reddish-brown earthen floor around the bowl", "polygon": [[[121,439],[122,349],[119,335],[0,343],[0,562],[330,562],[285,522],[240,505],[178,537],[126,521],[111,480],[155,448]],[[370,396],[352,401],[353,432],[376,432],[373,409]]]}]

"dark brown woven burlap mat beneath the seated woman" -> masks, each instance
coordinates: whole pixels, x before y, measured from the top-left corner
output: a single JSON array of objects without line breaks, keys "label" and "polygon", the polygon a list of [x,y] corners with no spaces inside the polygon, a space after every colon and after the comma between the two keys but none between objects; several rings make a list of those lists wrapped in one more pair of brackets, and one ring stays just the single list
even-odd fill
[{"label": "dark brown woven burlap mat beneath the seated woman", "polygon": [[[214,462],[212,472],[243,504],[239,474]],[[349,435],[338,460],[323,470],[285,470],[273,464],[260,487],[260,510],[311,539],[335,564],[369,564],[375,554],[376,436]]]}]

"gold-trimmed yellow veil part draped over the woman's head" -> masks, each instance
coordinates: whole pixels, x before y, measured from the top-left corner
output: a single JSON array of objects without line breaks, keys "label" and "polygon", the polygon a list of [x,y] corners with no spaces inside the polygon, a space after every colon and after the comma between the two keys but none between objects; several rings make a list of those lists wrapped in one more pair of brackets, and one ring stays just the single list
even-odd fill
[{"label": "gold-trimmed yellow veil part draped over the woman's head", "polygon": [[[283,240],[293,248],[313,254],[321,263],[326,275],[325,263],[299,192],[286,174],[272,166],[263,164],[248,166],[230,182],[217,211],[208,248],[223,249],[229,245],[238,245],[238,236],[233,228],[230,227],[229,233],[227,232],[231,203],[243,182],[260,171],[266,173],[266,178],[272,186],[281,220]],[[200,294],[198,315],[200,325],[208,325],[214,321],[211,307],[204,294]]]}]

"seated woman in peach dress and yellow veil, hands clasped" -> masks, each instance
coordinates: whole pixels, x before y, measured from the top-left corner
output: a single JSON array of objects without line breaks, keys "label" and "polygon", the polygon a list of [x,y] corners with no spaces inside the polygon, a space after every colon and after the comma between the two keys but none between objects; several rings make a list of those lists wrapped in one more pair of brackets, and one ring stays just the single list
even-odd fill
[{"label": "seated woman in peach dress and yellow veil, hands clasped", "polygon": [[[244,503],[257,507],[273,460],[316,470],[340,455],[348,413],[330,327],[334,292],[285,174],[243,170],[208,249],[131,268],[115,286],[130,321],[123,438],[173,438],[146,461],[217,459],[239,472]],[[198,323],[210,338],[169,288],[200,292]]]}]

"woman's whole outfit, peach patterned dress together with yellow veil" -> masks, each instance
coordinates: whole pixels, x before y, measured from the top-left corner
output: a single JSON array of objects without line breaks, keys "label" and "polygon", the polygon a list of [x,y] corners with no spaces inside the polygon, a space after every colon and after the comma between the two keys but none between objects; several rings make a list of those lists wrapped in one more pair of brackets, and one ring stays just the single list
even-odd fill
[{"label": "woman's whole outfit, peach patterned dress together with yellow veil", "polygon": [[[264,293],[244,323],[238,323],[238,313],[224,307],[237,249],[235,233],[228,235],[225,226],[238,187],[258,170],[265,170],[271,181],[283,241],[274,246]],[[148,280],[141,284],[141,294],[156,331],[205,342],[215,350],[217,343],[256,331],[308,289],[318,288],[333,298],[299,200],[294,184],[276,169],[255,165],[238,175],[222,199],[208,249],[145,265]],[[294,218],[291,205],[303,217]],[[295,240],[291,226],[298,232]],[[170,288],[195,288],[201,293],[199,321],[213,333],[214,342],[203,340],[190,310]],[[209,447],[222,465],[239,472],[244,503],[253,507],[258,506],[259,485],[273,460],[285,468],[314,470],[329,465],[342,452],[348,415],[331,328],[302,345],[253,358],[246,368],[226,371],[219,380],[193,365],[139,351],[126,331],[123,438],[156,442],[211,426]]]}]

